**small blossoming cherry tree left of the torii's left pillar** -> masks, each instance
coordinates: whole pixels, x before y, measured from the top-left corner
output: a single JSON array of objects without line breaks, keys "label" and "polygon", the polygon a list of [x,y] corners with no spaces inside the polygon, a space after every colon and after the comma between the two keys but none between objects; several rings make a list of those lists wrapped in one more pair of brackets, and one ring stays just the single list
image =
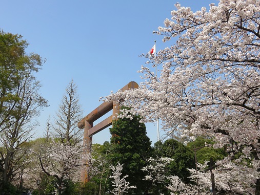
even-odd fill
[{"label": "small blossoming cherry tree left of the torii's left pillar", "polygon": [[58,194],[62,193],[66,179],[79,181],[82,169],[87,167],[86,162],[91,158],[91,155],[85,152],[86,147],[82,144],[49,141],[43,144],[39,151],[35,151],[39,169],[57,180]]}]

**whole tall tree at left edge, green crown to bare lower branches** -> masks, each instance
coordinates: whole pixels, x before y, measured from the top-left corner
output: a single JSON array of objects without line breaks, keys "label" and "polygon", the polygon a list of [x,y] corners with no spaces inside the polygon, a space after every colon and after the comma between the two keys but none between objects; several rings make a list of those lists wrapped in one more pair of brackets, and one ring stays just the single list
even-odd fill
[{"label": "whole tall tree at left edge, green crown to bare lower branches", "polygon": [[0,31],[0,191],[22,176],[29,149],[22,146],[37,126],[35,117],[47,106],[34,77],[43,60],[27,55],[27,46],[21,35]]}]

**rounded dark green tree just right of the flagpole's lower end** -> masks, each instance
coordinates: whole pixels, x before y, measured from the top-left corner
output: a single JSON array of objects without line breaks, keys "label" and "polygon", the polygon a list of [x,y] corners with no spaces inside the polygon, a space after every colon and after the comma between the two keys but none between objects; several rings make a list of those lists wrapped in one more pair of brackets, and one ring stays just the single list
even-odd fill
[{"label": "rounded dark green tree just right of the flagpole's lower end", "polygon": [[188,168],[195,168],[194,155],[190,148],[177,140],[168,139],[164,143],[158,141],[154,144],[154,155],[174,159],[169,164],[167,175],[178,176],[184,182],[189,182]]}]

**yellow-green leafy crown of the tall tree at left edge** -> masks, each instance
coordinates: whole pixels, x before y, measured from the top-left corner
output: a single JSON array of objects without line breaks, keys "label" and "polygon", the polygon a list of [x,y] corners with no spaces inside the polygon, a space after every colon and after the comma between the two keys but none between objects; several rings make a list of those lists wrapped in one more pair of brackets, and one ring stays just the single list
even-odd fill
[{"label": "yellow-green leafy crown of the tall tree at left edge", "polygon": [[26,54],[28,45],[21,35],[0,31],[0,132],[16,122],[10,118],[21,106],[21,81],[28,77],[35,81],[32,73],[38,72],[44,62],[37,54]]}]

